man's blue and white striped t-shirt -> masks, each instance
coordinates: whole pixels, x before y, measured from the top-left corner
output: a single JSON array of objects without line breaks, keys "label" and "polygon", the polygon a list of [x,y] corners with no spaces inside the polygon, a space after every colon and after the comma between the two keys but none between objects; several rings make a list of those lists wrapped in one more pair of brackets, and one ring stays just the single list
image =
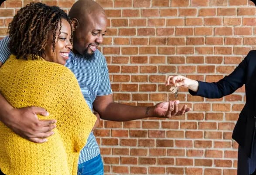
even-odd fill
[{"label": "man's blue and white striped t-shirt", "polygon": [[[0,61],[2,63],[11,54],[8,47],[9,41],[8,36],[0,40]],[[91,59],[86,59],[71,52],[65,66],[75,74],[82,94],[91,110],[96,96],[112,94],[106,59],[99,50],[96,50],[94,57]],[[85,147],[80,152],[78,163],[86,162],[99,155],[99,153],[99,146],[93,132],[91,132]]]}]

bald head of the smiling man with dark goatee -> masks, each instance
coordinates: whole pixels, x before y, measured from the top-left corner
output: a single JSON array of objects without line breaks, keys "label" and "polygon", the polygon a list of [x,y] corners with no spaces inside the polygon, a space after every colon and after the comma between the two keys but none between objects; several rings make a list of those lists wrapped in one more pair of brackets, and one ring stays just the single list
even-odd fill
[{"label": "bald head of the smiling man with dark goatee", "polygon": [[92,0],[78,0],[68,15],[74,28],[73,50],[85,57],[92,56],[106,32],[107,17],[103,8]]}]

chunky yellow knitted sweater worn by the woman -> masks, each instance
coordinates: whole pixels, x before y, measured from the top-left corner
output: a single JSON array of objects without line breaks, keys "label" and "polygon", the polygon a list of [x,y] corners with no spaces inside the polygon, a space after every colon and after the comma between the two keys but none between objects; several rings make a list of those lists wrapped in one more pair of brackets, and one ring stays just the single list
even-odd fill
[{"label": "chunky yellow knitted sweater worn by the woman", "polygon": [[0,169],[7,175],[76,175],[79,152],[96,117],[86,104],[74,74],[44,59],[16,59],[0,68],[0,92],[15,108],[40,106],[57,119],[55,134],[37,144],[0,122]]}]

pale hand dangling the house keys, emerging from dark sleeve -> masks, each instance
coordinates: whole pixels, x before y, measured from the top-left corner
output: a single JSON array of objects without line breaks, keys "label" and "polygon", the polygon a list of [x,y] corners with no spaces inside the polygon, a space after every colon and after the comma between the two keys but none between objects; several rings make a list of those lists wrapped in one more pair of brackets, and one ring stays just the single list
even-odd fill
[{"label": "pale hand dangling the house keys, emerging from dark sleeve", "polygon": [[170,84],[177,87],[188,87],[188,89],[195,92],[198,91],[198,81],[184,76],[168,76],[165,85],[167,86]]}]

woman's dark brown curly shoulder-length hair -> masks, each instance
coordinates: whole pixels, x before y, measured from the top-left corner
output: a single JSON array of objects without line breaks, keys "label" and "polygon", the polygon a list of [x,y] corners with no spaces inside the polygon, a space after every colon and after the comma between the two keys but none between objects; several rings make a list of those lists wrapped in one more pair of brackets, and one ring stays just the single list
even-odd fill
[{"label": "woman's dark brown curly shoulder-length hair", "polygon": [[56,6],[44,3],[29,3],[21,8],[9,24],[10,51],[17,59],[27,59],[28,55],[44,57],[45,47],[48,43],[48,34],[53,33],[52,51],[55,50],[56,31],[61,30],[61,19],[71,20],[67,13]]}]

